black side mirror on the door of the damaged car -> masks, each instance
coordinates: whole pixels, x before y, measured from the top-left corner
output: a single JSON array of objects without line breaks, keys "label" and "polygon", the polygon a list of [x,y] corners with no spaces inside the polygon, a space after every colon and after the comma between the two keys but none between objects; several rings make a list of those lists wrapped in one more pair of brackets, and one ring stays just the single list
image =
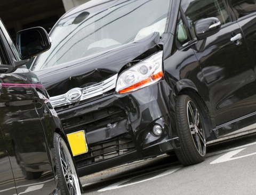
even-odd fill
[{"label": "black side mirror on the door of the damaged car", "polygon": [[198,20],[195,25],[195,34],[198,40],[205,39],[219,32],[221,23],[218,18]]}]

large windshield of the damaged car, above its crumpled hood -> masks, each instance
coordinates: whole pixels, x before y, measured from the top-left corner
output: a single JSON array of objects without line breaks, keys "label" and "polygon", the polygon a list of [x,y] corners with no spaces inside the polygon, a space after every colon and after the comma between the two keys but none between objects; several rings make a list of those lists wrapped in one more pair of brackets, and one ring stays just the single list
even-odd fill
[{"label": "large windshield of the damaged car, above its crumpled hood", "polygon": [[169,4],[170,0],[108,1],[66,16],[53,28],[52,47],[37,57],[34,70],[101,53],[153,32],[161,36]]}]

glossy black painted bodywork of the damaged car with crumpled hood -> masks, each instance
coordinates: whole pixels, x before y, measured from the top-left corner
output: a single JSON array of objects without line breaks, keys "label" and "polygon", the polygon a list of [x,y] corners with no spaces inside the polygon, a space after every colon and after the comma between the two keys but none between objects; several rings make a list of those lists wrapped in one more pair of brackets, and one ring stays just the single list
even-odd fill
[{"label": "glossy black painted bodywork of the damaged car with crumpled hood", "polygon": [[[190,37],[190,41],[181,45],[177,43],[176,27],[177,20],[185,18],[186,10],[182,9],[186,1],[170,2],[169,23],[161,38],[155,33],[100,55],[36,71],[50,96],[57,96],[75,87],[101,82],[121,73],[127,63],[163,50],[164,78],[161,81],[126,94],[111,90],[71,106],[56,108],[66,133],[86,132],[89,154],[75,157],[80,176],[179,148],[175,100],[181,94],[197,99],[205,111],[208,140],[256,122],[256,31],[253,28],[256,13],[237,20],[229,7],[230,22],[214,31],[214,35],[203,40]],[[229,1],[226,4],[229,5]],[[97,7],[101,4],[94,9]],[[82,10],[86,10],[86,4],[63,18]],[[230,41],[239,33],[242,39]],[[34,66],[36,62],[37,59]],[[112,112],[114,116],[107,118]],[[159,137],[151,131],[154,124],[164,129]],[[129,152],[100,160],[92,158],[96,147],[121,138],[130,140],[126,148]]]}]

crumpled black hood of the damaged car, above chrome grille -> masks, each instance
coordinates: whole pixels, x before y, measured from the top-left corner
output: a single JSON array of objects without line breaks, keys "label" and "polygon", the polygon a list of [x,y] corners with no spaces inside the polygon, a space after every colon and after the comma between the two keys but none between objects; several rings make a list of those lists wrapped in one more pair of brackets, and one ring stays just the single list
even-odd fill
[{"label": "crumpled black hood of the damaged car, above chrome grille", "polygon": [[159,43],[159,33],[113,50],[35,71],[50,96],[84,88],[119,73],[122,67]]}]

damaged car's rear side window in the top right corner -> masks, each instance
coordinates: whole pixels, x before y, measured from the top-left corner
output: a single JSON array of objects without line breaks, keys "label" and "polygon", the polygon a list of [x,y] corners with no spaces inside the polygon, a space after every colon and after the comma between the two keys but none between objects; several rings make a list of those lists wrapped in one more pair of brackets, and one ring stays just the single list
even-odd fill
[{"label": "damaged car's rear side window in the top right corner", "polygon": [[256,12],[256,0],[232,0],[231,5],[237,19]]}]

